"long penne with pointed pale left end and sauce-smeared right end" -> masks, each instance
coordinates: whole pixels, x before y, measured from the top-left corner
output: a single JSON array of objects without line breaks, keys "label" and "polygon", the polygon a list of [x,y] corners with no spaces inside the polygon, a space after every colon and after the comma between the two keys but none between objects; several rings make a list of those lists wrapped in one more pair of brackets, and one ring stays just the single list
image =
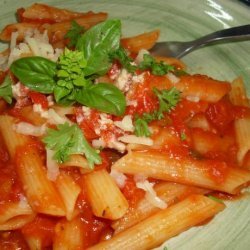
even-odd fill
[{"label": "long penne with pointed pale left end and sauce-smeared right end", "polygon": [[195,160],[190,157],[179,159],[154,151],[130,152],[118,160],[113,168],[125,174],[143,173],[150,178],[192,184],[231,194],[237,193],[242,185],[250,181],[249,171],[230,168],[224,162]]}]

